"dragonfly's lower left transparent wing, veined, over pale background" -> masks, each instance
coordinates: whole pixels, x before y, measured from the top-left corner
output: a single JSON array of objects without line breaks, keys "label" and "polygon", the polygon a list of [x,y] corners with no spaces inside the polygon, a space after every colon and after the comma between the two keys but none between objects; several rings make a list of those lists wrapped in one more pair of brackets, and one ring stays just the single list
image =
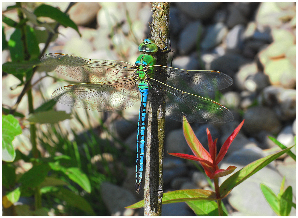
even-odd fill
[{"label": "dragonfly's lower left transparent wing, veined, over pale background", "polygon": [[52,99],[64,105],[95,111],[122,110],[134,105],[139,97],[134,77],[108,82],[80,83],[54,91]]}]

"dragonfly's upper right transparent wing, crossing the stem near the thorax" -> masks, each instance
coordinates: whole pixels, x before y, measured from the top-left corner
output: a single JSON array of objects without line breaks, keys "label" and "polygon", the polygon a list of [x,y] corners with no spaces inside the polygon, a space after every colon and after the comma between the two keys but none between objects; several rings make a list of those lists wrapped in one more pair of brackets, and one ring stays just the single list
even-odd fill
[{"label": "dragonfly's upper right transparent wing, crossing the stem near the thorax", "polygon": [[155,73],[168,76],[167,85],[197,95],[202,92],[221,90],[232,85],[228,75],[212,70],[183,70],[165,66],[153,66]]}]

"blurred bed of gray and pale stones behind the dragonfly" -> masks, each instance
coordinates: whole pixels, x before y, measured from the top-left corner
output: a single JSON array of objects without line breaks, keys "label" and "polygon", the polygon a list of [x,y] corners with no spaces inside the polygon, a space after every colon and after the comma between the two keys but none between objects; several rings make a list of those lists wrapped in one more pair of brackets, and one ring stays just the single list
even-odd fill
[{"label": "blurred bed of gray and pale stones behind the dragonfly", "polygon": [[[67,6],[66,3],[59,2],[53,5],[60,6],[62,10]],[[85,58],[117,59],[134,63],[139,55],[137,46],[148,34],[150,7],[147,2],[77,3],[70,11],[70,18],[79,25],[82,37],[71,28],[60,27],[61,35],[51,44],[47,53],[62,52]],[[131,26],[125,10],[128,11]],[[218,138],[219,147],[245,119],[221,168],[234,165],[239,170],[276,151],[277,146],[267,136],[275,137],[286,146],[294,145],[295,2],[173,2],[170,9],[170,37],[175,51],[173,67],[218,70],[234,80],[231,87],[222,90],[223,95],[219,102],[232,111],[235,119],[221,125],[192,125],[206,148],[206,127],[213,138]],[[61,82],[49,85],[52,81],[42,81],[43,91],[49,99],[55,89],[63,86]],[[62,108],[60,104],[57,107]],[[138,107],[137,103],[126,109],[126,120],[117,120],[111,126],[132,150],[136,150]],[[167,120],[165,151],[191,153],[184,139],[181,123]],[[293,152],[296,154],[295,149]],[[102,197],[112,215],[135,213],[132,210],[123,211],[127,202],[134,203],[142,197],[134,194],[134,170],[134,167],[127,169],[122,187],[104,184],[103,190],[109,192],[103,193]],[[286,186],[292,186],[296,199],[296,162],[283,156],[232,190],[224,201],[229,214],[275,215],[261,193],[260,183],[278,193],[283,176],[286,177]],[[209,189],[209,185],[192,164],[165,153],[164,191],[188,188]],[[111,197],[116,194],[119,197]],[[142,211],[137,213],[142,215]],[[177,203],[163,205],[162,215],[187,216],[194,213],[185,203]],[[294,208],[291,215],[296,215]]]}]

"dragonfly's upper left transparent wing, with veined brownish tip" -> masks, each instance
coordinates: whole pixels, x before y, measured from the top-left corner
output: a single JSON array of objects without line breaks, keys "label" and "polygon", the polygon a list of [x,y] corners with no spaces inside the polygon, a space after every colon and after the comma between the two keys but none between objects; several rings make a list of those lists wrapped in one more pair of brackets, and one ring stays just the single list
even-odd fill
[{"label": "dragonfly's upper left transparent wing, with veined brownish tip", "polygon": [[104,82],[132,76],[134,66],[123,61],[81,58],[68,54],[50,53],[40,61],[50,69],[84,82]]}]

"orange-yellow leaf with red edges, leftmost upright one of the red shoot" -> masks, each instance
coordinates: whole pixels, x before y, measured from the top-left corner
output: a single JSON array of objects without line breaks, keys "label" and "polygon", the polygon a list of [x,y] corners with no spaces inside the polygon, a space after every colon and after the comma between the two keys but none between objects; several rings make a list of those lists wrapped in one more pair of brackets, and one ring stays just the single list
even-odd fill
[{"label": "orange-yellow leaf with red edges, leftmost upright one of the red shoot", "polygon": [[209,152],[203,147],[200,141],[194,134],[194,131],[191,129],[191,126],[187,122],[187,119],[183,117],[183,133],[186,139],[188,146],[195,156],[205,159],[209,162],[212,162]]}]

